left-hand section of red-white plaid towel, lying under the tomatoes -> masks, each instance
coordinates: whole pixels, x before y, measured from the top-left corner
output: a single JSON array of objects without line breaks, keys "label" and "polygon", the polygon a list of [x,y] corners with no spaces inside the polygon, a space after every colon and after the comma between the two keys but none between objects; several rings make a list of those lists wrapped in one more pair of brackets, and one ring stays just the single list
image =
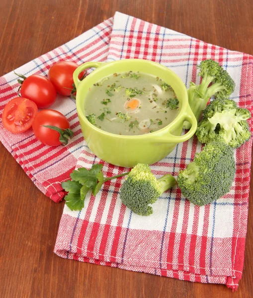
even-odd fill
[{"label": "left-hand section of red-white plaid towel, lying under the tomatoes", "polygon": [[[82,64],[86,61],[105,61],[109,49],[112,18],[95,26],[65,45],[45,54],[15,70],[17,74],[46,75],[50,67],[62,60]],[[49,147],[41,144],[32,129],[23,134],[12,134],[2,125],[1,114],[5,104],[17,96],[20,84],[10,72],[0,77],[0,141],[21,165],[34,184],[55,202],[65,193],[61,182],[68,179],[76,167],[84,138],[78,121],[76,102],[71,97],[58,94],[50,107],[63,113],[69,120],[74,138],[67,146]]]}]

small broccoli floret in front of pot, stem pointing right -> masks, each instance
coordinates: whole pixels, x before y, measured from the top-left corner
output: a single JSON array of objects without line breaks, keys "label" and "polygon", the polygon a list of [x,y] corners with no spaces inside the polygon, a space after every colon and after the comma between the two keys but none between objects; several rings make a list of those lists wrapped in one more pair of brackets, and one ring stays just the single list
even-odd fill
[{"label": "small broccoli floret in front of pot, stem pointing right", "polygon": [[147,164],[139,163],[125,179],[120,190],[120,199],[134,213],[148,216],[153,213],[149,204],[155,203],[175,183],[175,179],[169,174],[156,179]]}]

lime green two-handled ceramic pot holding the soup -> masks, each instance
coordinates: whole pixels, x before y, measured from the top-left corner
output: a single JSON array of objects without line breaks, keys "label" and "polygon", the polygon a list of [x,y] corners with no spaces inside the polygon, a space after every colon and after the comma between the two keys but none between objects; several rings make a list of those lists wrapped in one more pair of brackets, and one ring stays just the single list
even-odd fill
[{"label": "lime green two-handled ceramic pot holding the soup", "polygon": [[[88,68],[96,69],[80,81],[78,75]],[[163,129],[141,136],[122,136],[102,131],[86,119],[84,100],[89,87],[105,76],[129,71],[159,76],[174,89],[179,101],[179,113]],[[125,167],[133,167],[137,163],[152,164],[167,156],[177,143],[190,139],[196,131],[197,121],[188,104],[184,83],[179,76],[161,64],[140,59],[108,63],[87,62],[77,68],[73,77],[77,88],[78,117],[84,139],[89,149],[108,163]],[[185,120],[189,121],[192,126],[185,135],[181,136]]]}]

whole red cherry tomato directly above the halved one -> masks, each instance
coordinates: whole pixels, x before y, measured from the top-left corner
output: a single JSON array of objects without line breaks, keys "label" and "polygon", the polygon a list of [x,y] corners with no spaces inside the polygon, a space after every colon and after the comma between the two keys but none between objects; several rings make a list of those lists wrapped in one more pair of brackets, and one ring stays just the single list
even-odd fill
[{"label": "whole red cherry tomato directly above the halved one", "polygon": [[56,100],[57,92],[52,82],[42,75],[32,74],[21,85],[21,96],[34,101],[38,108],[48,108]]}]

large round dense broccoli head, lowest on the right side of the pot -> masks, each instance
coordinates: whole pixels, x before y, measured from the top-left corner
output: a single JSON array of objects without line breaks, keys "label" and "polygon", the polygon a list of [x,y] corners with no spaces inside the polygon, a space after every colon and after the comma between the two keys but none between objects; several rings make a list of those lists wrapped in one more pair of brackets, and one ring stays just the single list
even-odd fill
[{"label": "large round dense broccoli head, lowest on the right side of the pot", "polygon": [[235,171],[233,149],[225,143],[212,142],[179,172],[177,184],[191,203],[203,206],[229,192]]}]

